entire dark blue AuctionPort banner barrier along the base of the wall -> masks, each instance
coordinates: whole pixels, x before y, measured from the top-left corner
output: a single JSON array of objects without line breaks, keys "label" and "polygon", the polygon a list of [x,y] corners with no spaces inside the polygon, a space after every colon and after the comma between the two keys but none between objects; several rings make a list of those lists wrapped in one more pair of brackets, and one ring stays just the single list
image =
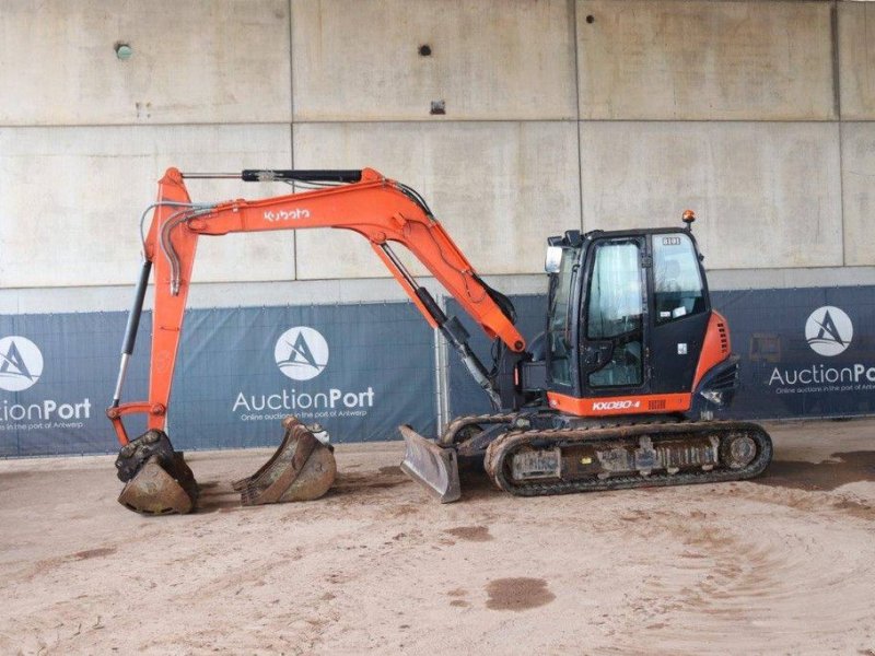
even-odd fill
[{"label": "entire dark blue AuctionPort banner barrier along the base of the wall", "polygon": [[[544,330],[546,298],[513,301],[530,341]],[[712,301],[742,356],[732,415],[875,412],[875,288],[713,292]],[[452,300],[447,309],[459,314]],[[489,365],[491,343],[459,318]],[[104,409],[125,321],[126,313],[0,316],[0,457],[115,452]],[[145,399],[150,331],[147,313],[122,400]],[[293,413],[323,423],[335,442],[397,438],[400,423],[433,435],[434,355],[433,332],[409,303],[194,309],[168,433],[180,449],[272,446],[279,419]],[[448,358],[451,415],[488,411]],[[126,424],[137,435],[144,422]]]}]

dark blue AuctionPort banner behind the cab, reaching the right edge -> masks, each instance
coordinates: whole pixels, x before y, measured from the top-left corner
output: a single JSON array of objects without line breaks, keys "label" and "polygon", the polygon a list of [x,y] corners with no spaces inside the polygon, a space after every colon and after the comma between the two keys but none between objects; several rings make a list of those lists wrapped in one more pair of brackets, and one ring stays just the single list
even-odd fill
[{"label": "dark blue AuctionPort banner behind the cab, reaching the right edge", "polygon": [[[547,297],[514,296],[532,340],[547,324]],[[711,292],[740,356],[742,387],[725,414],[785,419],[875,412],[875,286]],[[458,305],[447,304],[450,314]],[[469,321],[475,352],[491,366],[490,342]],[[488,412],[483,393],[450,354],[451,414]]]}]

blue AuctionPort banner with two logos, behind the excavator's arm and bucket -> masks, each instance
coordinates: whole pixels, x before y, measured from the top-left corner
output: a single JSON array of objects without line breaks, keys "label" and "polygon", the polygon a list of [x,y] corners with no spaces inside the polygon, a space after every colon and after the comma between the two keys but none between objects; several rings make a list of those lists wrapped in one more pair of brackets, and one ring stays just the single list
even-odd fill
[{"label": "blue AuctionPort banner with two logos, behind the excavator's arm and bucket", "polygon": [[[126,319],[0,317],[0,456],[117,449],[104,411]],[[150,331],[144,313],[122,402],[145,400]],[[167,433],[177,449],[275,446],[295,414],[336,443],[394,440],[401,423],[433,433],[434,399],[433,332],[409,303],[192,309]]]}]

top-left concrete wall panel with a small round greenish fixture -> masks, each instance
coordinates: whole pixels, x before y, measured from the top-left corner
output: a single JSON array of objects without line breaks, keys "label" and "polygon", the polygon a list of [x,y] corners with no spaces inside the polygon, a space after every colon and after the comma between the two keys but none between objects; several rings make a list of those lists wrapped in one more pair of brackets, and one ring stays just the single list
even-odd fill
[{"label": "top-left concrete wall panel with a small round greenish fixture", "polygon": [[289,40],[288,0],[4,0],[0,125],[289,122]]}]

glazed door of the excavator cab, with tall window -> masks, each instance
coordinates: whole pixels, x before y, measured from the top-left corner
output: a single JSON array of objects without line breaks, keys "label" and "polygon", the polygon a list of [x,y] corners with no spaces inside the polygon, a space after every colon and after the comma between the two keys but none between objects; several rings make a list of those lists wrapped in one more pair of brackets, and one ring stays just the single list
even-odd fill
[{"label": "glazed door of the excavator cab, with tall window", "polygon": [[645,248],[645,238],[635,236],[597,239],[590,248],[581,307],[583,396],[649,390]]}]

